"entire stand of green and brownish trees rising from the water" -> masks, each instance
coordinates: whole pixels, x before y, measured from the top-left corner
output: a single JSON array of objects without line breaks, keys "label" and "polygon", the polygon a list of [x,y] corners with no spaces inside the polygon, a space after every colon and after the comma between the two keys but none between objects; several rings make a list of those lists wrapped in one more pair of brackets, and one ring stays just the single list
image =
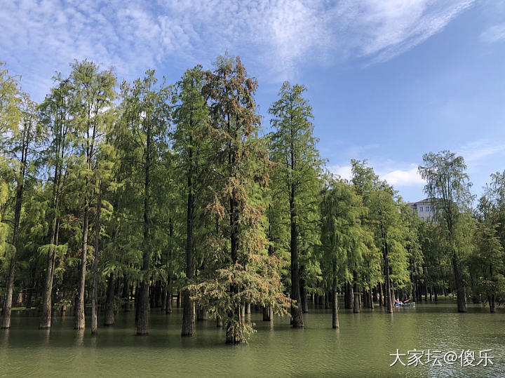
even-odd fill
[{"label": "entire stand of green and brownish trees rising from the water", "polygon": [[182,307],[182,336],[216,319],[226,341],[287,315],[304,327],[308,303],[332,309],[384,306],[396,298],[505,300],[505,171],[491,175],[472,208],[461,156],[426,154],[436,217],[422,222],[366,161],[352,179],[325,169],[306,88],[283,83],[269,132],[257,81],[241,60],[188,69],[169,85],[154,70],[117,83],[84,60],[54,77],[37,104],[0,65],[1,328],[13,304],[74,311],[74,328],[97,333],[135,311]]}]

